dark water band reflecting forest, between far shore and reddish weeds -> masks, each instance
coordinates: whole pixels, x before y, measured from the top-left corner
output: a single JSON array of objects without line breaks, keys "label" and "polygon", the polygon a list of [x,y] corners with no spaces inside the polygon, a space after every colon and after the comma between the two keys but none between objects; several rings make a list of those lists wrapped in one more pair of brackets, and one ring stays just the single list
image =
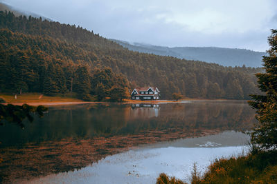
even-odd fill
[{"label": "dark water band reflecting forest, between far shore and reddish weeds", "polygon": [[1,146],[65,138],[139,134],[153,130],[250,130],[254,111],[244,101],[168,104],[93,103],[49,108],[44,119],[0,127]]}]

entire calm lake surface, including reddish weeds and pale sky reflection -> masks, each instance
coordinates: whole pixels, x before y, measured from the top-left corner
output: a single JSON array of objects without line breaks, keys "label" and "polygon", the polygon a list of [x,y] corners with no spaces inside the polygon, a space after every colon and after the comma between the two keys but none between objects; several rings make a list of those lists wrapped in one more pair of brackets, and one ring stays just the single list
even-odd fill
[{"label": "entire calm lake surface, including reddish weeds and pale sky reflection", "polygon": [[241,132],[255,123],[245,101],[50,107],[25,130],[1,127],[0,174],[19,183],[153,183],[160,172],[188,180],[194,162],[204,171],[213,159],[246,152]]}]

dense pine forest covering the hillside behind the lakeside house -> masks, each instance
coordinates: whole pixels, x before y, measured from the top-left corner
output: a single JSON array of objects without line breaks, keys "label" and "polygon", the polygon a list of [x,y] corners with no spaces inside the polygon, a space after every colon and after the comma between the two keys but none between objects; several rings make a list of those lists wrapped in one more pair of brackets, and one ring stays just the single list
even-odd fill
[{"label": "dense pine forest covering the hillside behind the lakeside house", "polygon": [[133,52],[75,25],[0,12],[0,40],[0,92],[73,92],[85,100],[148,85],[157,86],[162,99],[175,92],[201,99],[258,93],[253,74],[260,68]]}]

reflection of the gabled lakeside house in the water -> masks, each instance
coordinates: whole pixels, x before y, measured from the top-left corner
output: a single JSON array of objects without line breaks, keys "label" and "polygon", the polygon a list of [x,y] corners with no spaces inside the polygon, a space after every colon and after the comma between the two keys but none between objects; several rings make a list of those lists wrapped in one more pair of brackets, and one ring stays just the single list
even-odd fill
[{"label": "reflection of the gabled lakeside house in the water", "polygon": [[159,104],[136,103],[132,104],[132,116],[134,118],[152,118],[159,116]]}]

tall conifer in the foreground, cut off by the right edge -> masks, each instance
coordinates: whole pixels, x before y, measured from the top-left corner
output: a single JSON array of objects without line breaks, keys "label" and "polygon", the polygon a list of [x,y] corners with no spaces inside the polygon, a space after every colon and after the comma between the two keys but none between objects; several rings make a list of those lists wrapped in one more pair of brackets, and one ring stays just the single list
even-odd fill
[{"label": "tall conifer in the foreground, cut off by the right edge", "polygon": [[277,149],[277,30],[271,30],[268,56],[263,57],[265,73],[256,74],[258,88],[264,94],[252,94],[249,101],[256,108],[258,127],[251,134],[251,142],[261,149]]}]

